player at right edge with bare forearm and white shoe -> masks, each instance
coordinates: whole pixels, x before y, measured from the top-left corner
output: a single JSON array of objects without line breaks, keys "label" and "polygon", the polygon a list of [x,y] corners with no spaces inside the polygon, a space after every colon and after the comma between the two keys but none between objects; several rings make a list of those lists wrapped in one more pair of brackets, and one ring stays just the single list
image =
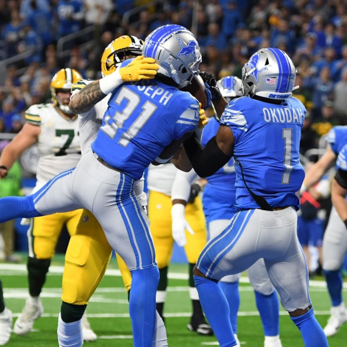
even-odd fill
[{"label": "player at right edge with bare forearm and white shoe", "polygon": [[[317,183],[332,167],[339,152],[347,144],[347,126],[333,127],[325,137],[328,147],[323,156],[306,172],[301,193]],[[325,229],[322,244],[323,272],[331,299],[330,317],[324,327],[326,336],[335,335],[341,325],[347,322],[347,310],[342,299],[341,268],[347,252],[347,233],[344,222],[333,206]]]}]

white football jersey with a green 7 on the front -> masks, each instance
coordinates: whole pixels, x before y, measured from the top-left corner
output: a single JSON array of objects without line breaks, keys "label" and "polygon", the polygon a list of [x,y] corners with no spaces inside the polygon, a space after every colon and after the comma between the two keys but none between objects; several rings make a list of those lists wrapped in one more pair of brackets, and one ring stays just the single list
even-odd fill
[{"label": "white football jersey with a green 7 on the front", "polygon": [[25,112],[26,121],[40,126],[37,139],[39,162],[35,191],[60,172],[74,168],[81,158],[77,116],[68,118],[53,104],[32,105]]}]

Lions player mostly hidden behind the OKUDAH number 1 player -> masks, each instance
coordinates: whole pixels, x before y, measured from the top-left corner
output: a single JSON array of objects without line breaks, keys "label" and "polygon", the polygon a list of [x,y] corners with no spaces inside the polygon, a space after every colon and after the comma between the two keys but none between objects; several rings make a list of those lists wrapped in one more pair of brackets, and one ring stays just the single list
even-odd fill
[{"label": "Lions player mostly hidden behind the OKUDAH number 1 player", "polygon": [[[235,76],[223,77],[217,82],[222,96],[230,102],[242,96],[242,81]],[[204,127],[201,144],[206,146],[209,140],[217,134],[219,121],[209,120]],[[209,238],[219,235],[228,225],[232,216],[237,212],[235,208],[235,180],[236,172],[234,159],[207,178],[208,184],[204,188],[203,209],[209,226]],[[266,272],[263,259],[256,261],[248,270],[249,281],[254,289],[256,305],[263,323],[265,341],[264,347],[281,347],[279,339],[279,304],[278,297]],[[219,281],[230,308],[230,320],[234,335],[237,334],[237,311],[240,303],[238,281],[241,274],[228,275]],[[237,339],[237,336],[235,336]]]}]

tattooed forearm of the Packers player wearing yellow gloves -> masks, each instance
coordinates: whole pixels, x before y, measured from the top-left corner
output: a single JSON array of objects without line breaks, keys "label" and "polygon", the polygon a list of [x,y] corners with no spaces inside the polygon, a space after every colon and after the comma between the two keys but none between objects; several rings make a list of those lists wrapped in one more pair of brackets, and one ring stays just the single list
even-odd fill
[{"label": "tattooed forearm of the Packers player wearing yellow gloves", "polygon": [[106,95],[101,91],[99,80],[93,81],[71,96],[69,109],[76,115],[87,112]]}]

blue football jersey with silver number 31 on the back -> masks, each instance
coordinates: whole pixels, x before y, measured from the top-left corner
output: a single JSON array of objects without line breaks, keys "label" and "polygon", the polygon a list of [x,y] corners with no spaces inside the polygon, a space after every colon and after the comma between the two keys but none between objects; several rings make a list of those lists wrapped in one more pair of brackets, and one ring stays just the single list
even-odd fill
[{"label": "blue football jersey with silver number 31 on the back", "polygon": [[199,122],[198,101],[156,80],[124,83],[112,92],[93,151],[134,179],[173,140]]}]

